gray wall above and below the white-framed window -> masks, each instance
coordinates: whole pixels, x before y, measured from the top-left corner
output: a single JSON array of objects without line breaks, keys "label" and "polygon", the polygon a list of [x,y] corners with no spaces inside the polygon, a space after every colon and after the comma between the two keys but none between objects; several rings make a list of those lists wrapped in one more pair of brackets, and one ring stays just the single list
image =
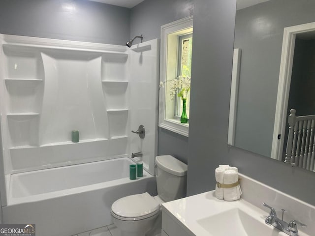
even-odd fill
[{"label": "gray wall above and below the white-framed window", "polygon": [[[161,26],[191,16],[193,0],[145,0],[131,9],[131,34],[144,35],[143,41],[160,38]],[[188,138],[158,128],[158,155],[171,154],[188,161]]]}]

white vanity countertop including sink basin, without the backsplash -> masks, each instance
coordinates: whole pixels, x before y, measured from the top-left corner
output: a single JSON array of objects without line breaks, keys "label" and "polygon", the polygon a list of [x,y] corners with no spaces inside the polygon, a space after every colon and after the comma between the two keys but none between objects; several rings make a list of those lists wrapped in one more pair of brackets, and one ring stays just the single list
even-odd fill
[{"label": "white vanity countertop including sink basin, without the backsplash", "polygon": [[265,211],[244,200],[218,200],[214,192],[165,203],[162,207],[185,225],[191,236],[287,236],[265,223],[268,216]]}]

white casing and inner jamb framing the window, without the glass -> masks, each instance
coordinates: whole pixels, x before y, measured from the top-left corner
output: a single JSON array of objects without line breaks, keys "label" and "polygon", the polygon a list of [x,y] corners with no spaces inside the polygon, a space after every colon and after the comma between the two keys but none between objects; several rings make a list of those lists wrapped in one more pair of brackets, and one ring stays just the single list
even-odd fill
[{"label": "white casing and inner jamb framing the window, without the glass", "polygon": [[[192,33],[192,22],[193,18],[189,16],[161,26],[160,82],[178,76],[178,48],[173,49],[174,38],[176,38],[176,44],[178,44],[178,36]],[[171,55],[169,55],[170,50],[174,51]],[[175,54],[175,58],[173,54]],[[176,66],[175,70],[173,69],[174,65]],[[172,67],[172,72],[169,72],[169,67]],[[167,91],[167,84],[164,84],[164,86],[165,88],[159,89],[158,126],[188,137],[189,123],[183,124],[175,118],[176,99],[171,100]]]}]

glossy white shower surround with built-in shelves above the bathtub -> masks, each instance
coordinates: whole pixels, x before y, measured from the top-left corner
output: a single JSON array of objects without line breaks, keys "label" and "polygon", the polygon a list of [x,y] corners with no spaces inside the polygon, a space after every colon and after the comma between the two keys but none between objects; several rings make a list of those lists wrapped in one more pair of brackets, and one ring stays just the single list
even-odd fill
[{"label": "glossy white shower surround with built-in shelves above the bathtub", "polygon": [[[126,46],[0,35],[1,202],[14,173],[143,152],[154,175],[159,41]],[[140,124],[145,139],[131,133]],[[71,130],[80,142],[71,142]],[[6,185],[6,187],[5,187]]]}]

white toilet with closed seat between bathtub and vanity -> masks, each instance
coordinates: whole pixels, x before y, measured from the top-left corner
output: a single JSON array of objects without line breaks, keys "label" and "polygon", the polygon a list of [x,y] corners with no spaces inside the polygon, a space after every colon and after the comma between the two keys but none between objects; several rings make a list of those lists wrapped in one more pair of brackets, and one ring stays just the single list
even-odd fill
[{"label": "white toilet with closed seat between bathtub and vanity", "polygon": [[111,207],[122,236],[148,236],[161,229],[161,204],[186,197],[187,165],[171,155],[156,157],[158,195],[141,193],[118,199]]}]

